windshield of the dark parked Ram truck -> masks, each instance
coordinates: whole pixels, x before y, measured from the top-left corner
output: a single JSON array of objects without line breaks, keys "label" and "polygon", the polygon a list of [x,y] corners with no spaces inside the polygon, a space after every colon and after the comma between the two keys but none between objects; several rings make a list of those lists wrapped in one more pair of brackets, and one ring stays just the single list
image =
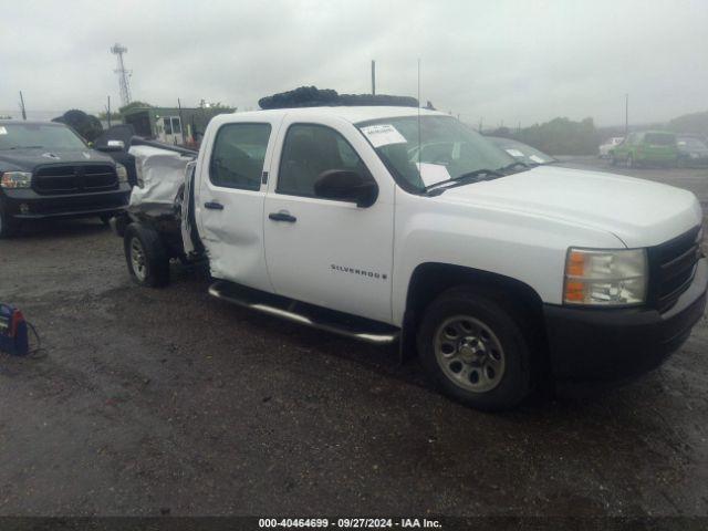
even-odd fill
[{"label": "windshield of the dark parked Ram truck", "polygon": [[0,122],[0,150],[85,149],[84,142],[69,127],[50,124],[3,124]]}]

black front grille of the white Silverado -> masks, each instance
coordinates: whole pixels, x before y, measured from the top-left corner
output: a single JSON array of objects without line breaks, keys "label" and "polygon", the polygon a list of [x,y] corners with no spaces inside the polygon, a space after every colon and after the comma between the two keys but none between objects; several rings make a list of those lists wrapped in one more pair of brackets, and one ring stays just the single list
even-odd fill
[{"label": "black front grille of the white Silverado", "polygon": [[696,262],[700,256],[700,242],[697,241],[699,230],[696,227],[673,240],[647,249],[648,300],[662,313],[676,304],[694,280]]}]

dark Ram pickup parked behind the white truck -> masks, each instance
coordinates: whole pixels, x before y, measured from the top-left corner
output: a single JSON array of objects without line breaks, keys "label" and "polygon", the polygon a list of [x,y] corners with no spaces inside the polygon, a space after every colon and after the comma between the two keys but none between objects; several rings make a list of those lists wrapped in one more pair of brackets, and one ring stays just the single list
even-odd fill
[{"label": "dark Ram pickup parked behind the white truck", "polygon": [[23,220],[96,216],[125,209],[127,171],[63,124],[0,121],[0,238]]}]

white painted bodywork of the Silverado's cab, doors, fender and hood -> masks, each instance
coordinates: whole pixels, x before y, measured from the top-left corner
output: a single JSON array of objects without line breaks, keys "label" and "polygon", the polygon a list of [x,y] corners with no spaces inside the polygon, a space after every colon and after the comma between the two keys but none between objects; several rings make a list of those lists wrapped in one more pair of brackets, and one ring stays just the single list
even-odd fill
[{"label": "white painted bodywork of the Silverado's cab, doors, fender and hood", "polygon": [[[502,274],[528,284],[542,301],[560,304],[570,247],[649,247],[701,222],[700,205],[686,190],[550,166],[450,188],[436,197],[403,191],[353,124],[417,112],[316,107],[214,118],[195,186],[196,219],[212,274],[400,325],[410,277],[420,264]],[[215,132],[231,122],[272,125],[264,168],[270,177],[259,191],[223,189],[209,181]],[[294,123],[330,126],[350,142],[378,184],[372,207],[275,192],[283,138]],[[204,209],[211,200],[225,209]],[[279,211],[288,211],[296,222],[268,218]]]}]

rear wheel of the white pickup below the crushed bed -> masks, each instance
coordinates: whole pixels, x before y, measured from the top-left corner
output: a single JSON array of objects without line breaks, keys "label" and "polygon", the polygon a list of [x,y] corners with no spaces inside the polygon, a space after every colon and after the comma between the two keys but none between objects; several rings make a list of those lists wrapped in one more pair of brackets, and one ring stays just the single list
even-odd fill
[{"label": "rear wheel of the white pickup below the crushed bed", "polygon": [[135,282],[150,288],[169,283],[169,256],[159,235],[138,223],[131,223],[123,237],[125,260]]}]

